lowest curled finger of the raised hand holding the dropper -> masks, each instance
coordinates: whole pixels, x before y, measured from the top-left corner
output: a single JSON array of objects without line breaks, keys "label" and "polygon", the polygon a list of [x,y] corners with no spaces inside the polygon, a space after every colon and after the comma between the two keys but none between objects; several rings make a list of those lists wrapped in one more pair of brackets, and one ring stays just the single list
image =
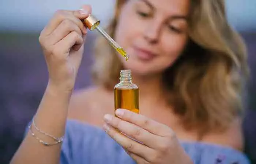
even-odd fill
[{"label": "lowest curled finger of the raised hand holding the dropper", "polygon": [[65,38],[61,39],[60,42],[58,42],[54,47],[54,54],[63,55],[66,54],[66,56],[69,55],[70,49],[73,47],[74,51],[78,51],[80,47],[83,45],[83,38],[80,34],[78,34],[75,31],[72,31],[69,33]]}]

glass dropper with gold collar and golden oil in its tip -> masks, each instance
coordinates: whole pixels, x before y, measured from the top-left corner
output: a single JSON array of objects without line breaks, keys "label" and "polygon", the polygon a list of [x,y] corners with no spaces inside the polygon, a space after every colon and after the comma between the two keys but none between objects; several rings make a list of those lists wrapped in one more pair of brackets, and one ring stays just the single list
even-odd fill
[{"label": "glass dropper with gold collar and golden oil in its tip", "polygon": [[124,51],[124,49],[116,42],[114,41],[114,39],[111,38],[111,36],[109,36],[105,30],[103,30],[103,28],[101,28],[99,26],[100,21],[94,16],[94,15],[89,15],[86,19],[84,19],[84,23],[85,25],[90,29],[90,31],[93,31],[95,28],[97,29],[97,31],[103,35],[106,40],[108,40],[108,42],[110,43],[110,45],[116,49],[116,51],[121,54],[122,56],[124,56],[125,60],[127,61],[129,56],[127,55],[127,53]]}]

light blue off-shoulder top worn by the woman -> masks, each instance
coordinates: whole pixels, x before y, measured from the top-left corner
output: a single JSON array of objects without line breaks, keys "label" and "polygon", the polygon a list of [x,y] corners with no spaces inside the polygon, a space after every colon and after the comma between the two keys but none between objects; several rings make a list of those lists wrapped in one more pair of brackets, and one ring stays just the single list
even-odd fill
[{"label": "light blue off-shoulder top worn by the woman", "polygon": [[[194,164],[249,164],[235,149],[202,142],[181,142]],[[136,164],[101,128],[68,120],[61,149],[61,164]]]}]

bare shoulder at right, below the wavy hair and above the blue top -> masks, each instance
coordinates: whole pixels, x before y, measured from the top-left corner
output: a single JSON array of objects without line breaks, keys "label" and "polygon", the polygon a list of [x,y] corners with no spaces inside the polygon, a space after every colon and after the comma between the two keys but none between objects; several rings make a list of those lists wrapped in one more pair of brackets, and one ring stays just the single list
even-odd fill
[{"label": "bare shoulder at right, below the wavy hair and above the blue top", "polygon": [[242,133],[242,119],[236,118],[222,133],[209,133],[203,137],[203,142],[210,142],[213,144],[220,144],[223,146],[244,150],[244,136]]}]

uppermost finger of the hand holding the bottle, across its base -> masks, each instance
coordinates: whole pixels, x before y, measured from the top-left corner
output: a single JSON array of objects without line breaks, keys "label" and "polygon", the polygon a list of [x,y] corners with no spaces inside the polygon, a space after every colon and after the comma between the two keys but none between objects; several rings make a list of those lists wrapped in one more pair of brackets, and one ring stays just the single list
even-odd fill
[{"label": "uppermost finger of the hand holding the bottle, across its base", "polygon": [[122,120],[131,122],[132,124],[138,125],[141,128],[147,130],[150,133],[156,134],[161,137],[173,137],[175,133],[168,126],[160,124],[157,121],[151,120],[141,114],[131,112],[125,109],[117,109],[116,115]]}]

